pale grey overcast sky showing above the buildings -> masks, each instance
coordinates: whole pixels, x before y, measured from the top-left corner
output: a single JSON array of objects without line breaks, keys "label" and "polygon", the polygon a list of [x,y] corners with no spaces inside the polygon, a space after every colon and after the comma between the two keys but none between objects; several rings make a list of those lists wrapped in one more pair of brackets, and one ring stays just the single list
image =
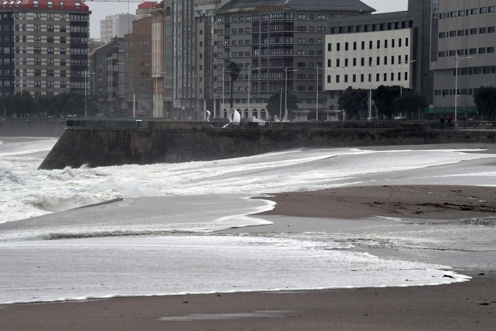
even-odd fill
[{"label": "pale grey overcast sky showing above the buildings", "polygon": [[[399,11],[406,10],[408,0],[362,0],[377,12]],[[105,19],[105,16],[127,12],[127,2],[91,2],[86,4],[92,11],[90,17],[90,36],[91,38],[100,38],[100,20]],[[129,3],[129,12],[135,13],[138,7],[137,2]]]}]

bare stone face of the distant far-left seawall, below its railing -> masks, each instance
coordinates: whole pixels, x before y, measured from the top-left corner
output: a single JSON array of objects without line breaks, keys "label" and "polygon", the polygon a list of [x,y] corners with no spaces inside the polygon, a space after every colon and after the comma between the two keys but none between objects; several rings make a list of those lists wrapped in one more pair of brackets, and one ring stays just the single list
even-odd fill
[{"label": "bare stone face of the distant far-left seawall, below its railing", "polygon": [[60,137],[65,130],[61,123],[11,123],[0,121],[0,136],[7,137]]}]

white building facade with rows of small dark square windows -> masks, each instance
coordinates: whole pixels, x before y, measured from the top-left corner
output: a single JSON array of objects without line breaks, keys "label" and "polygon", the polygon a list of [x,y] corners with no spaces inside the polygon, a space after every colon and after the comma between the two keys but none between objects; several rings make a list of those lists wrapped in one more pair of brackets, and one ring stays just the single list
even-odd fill
[{"label": "white building facade with rows of small dark square windows", "polygon": [[414,29],[325,36],[324,89],[340,94],[348,87],[380,85],[412,88]]}]

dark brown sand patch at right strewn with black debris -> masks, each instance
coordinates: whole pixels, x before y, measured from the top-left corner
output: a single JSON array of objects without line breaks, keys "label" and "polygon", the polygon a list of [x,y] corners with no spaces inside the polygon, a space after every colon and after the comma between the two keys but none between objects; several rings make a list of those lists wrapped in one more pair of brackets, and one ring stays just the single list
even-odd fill
[{"label": "dark brown sand patch at right strewn with black debris", "polygon": [[357,219],[368,216],[454,220],[496,215],[496,188],[480,186],[360,186],[271,195],[267,215]]}]

